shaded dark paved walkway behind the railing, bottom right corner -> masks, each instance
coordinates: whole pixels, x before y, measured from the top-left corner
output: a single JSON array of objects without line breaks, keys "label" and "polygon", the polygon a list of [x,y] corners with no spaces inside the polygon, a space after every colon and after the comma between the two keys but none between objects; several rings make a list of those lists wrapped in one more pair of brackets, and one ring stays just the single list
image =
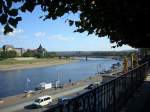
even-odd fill
[{"label": "shaded dark paved walkway behind the railing, bottom right corner", "polygon": [[150,74],[120,112],[150,112]]}]

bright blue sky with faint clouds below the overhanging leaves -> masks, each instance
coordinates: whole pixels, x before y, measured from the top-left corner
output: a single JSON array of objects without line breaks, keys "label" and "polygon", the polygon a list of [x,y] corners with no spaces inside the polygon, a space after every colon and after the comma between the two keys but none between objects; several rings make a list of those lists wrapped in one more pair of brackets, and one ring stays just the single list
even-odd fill
[{"label": "bright blue sky with faint clouds below the overhanging leaves", "polygon": [[3,35],[3,27],[0,25],[0,47],[5,44],[15,48],[35,49],[40,44],[47,51],[120,51],[134,50],[129,46],[111,48],[107,37],[98,38],[94,34],[75,33],[74,26],[65,22],[67,18],[78,19],[78,15],[69,15],[57,20],[39,19],[41,12],[37,9],[33,13],[20,14],[23,18],[17,29],[8,35]]}]

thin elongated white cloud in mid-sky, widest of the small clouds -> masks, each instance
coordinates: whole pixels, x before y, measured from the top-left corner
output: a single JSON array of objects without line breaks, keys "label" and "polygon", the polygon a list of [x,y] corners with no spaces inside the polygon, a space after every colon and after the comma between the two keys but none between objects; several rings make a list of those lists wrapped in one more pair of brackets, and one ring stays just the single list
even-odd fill
[{"label": "thin elongated white cloud in mid-sky, widest of the small clouds", "polygon": [[52,36],[49,36],[48,38],[52,39],[52,40],[61,40],[61,41],[71,41],[71,40],[74,40],[73,37],[65,37],[63,35],[52,35]]}]

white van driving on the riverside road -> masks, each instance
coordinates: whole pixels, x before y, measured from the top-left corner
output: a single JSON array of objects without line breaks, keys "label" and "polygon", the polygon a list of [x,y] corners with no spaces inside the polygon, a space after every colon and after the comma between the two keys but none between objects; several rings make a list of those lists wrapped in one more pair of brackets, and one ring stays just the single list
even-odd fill
[{"label": "white van driving on the riverside road", "polygon": [[46,96],[41,96],[41,97],[35,99],[33,102],[33,105],[35,105],[37,107],[43,107],[50,103],[52,103],[52,97],[46,95]]}]

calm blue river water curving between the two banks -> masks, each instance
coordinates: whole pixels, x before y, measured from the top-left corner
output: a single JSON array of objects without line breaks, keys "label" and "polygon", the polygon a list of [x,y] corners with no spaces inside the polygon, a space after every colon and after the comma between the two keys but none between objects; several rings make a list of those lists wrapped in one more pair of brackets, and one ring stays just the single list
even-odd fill
[{"label": "calm blue river water curving between the two banks", "polygon": [[120,61],[89,58],[88,61],[79,59],[64,65],[0,71],[0,98],[23,93],[27,87],[34,89],[41,82],[54,83],[60,80],[62,83],[69,83],[69,79],[72,82],[82,80],[95,75],[97,71],[110,69],[111,65],[116,62]]}]

